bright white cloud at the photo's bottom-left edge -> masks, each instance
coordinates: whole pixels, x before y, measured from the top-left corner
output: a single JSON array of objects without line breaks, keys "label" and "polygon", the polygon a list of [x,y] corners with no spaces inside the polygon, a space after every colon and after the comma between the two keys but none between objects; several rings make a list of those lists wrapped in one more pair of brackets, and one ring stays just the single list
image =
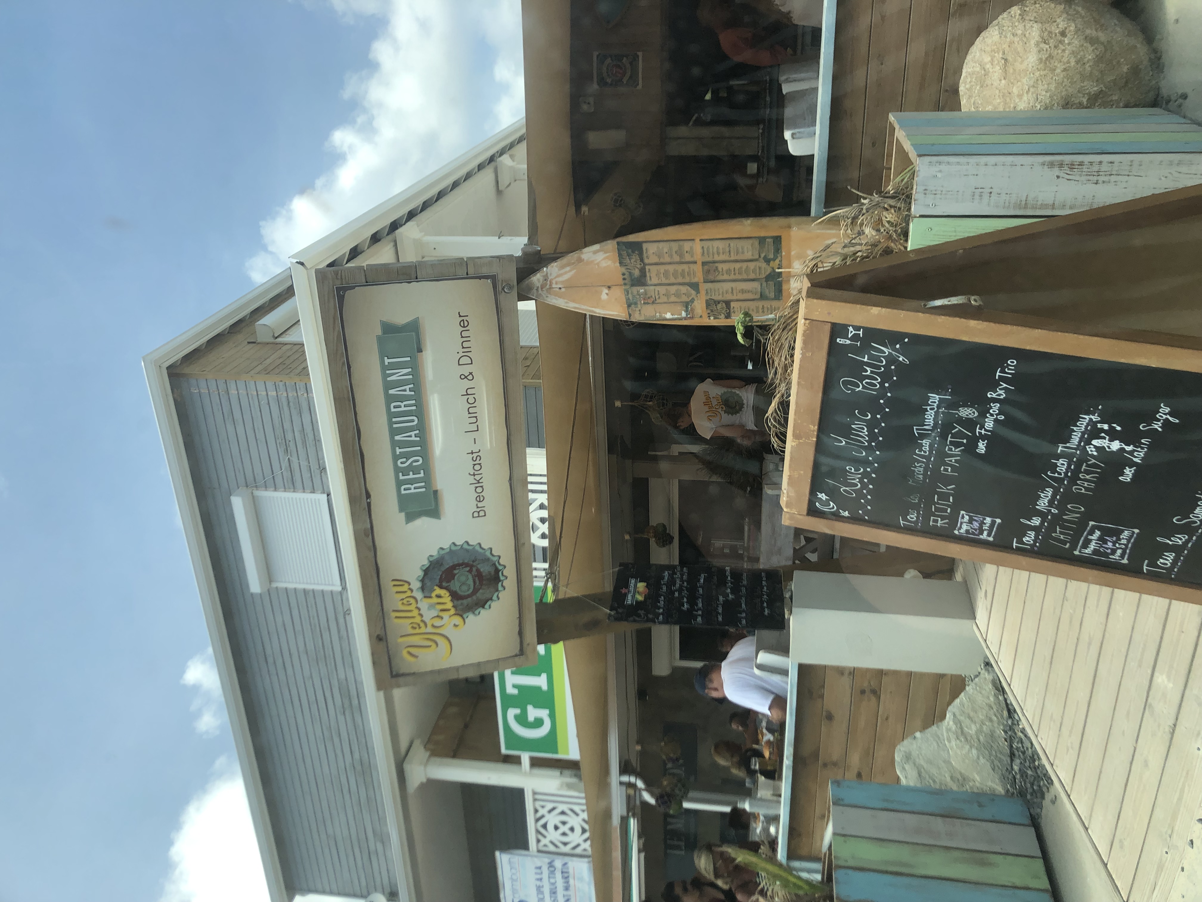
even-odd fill
[{"label": "bright white cloud at the photo's bottom-left edge", "polygon": [[220,758],[172,836],[160,902],[268,902],[267,878],[242,776]]}]

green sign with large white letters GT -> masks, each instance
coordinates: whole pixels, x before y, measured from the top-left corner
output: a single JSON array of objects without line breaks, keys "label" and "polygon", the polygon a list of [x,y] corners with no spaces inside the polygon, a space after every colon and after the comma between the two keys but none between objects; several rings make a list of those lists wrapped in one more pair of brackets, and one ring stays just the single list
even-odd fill
[{"label": "green sign with large white letters GT", "polygon": [[501,752],[579,760],[564,645],[538,646],[538,663],[496,673]]}]

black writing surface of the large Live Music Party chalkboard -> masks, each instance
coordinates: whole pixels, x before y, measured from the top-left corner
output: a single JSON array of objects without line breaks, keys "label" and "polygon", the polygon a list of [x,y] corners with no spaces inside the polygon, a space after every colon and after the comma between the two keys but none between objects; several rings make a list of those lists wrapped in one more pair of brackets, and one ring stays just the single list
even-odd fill
[{"label": "black writing surface of the large Live Music Party chalkboard", "polygon": [[808,511],[1202,584],[1202,374],[832,324]]}]

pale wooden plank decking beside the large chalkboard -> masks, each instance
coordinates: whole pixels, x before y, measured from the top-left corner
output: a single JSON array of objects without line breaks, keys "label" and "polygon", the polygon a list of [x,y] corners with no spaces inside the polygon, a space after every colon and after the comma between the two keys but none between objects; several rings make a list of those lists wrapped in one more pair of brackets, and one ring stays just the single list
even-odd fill
[{"label": "pale wooden plank decking beside the large chalkboard", "polygon": [[990,657],[1119,892],[1202,898],[1202,606],[963,572]]}]

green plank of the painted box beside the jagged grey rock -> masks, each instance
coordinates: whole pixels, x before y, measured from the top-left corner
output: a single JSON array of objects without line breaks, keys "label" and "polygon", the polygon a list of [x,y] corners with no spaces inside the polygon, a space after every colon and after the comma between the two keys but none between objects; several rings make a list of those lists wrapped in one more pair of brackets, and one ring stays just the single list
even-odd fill
[{"label": "green plank of the painted box beside the jagged grey rock", "polygon": [[862,839],[857,836],[835,836],[831,841],[831,848],[837,868],[934,877],[941,880],[980,883],[986,886],[1051,889],[1047,872],[1043,870],[1043,859],[969,849],[941,849],[888,839]]}]

